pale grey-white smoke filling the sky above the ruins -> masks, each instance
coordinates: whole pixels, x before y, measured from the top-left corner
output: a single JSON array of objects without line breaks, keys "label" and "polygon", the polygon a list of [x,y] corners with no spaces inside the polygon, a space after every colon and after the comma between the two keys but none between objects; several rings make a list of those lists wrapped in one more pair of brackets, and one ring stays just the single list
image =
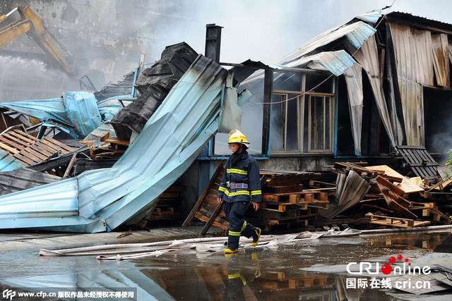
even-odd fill
[{"label": "pale grey-white smoke filling the sky above the ruins", "polygon": [[[141,53],[147,54],[146,63],[153,63],[160,59],[167,45],[184,41],[203,54],[208,23],[224,27],[220,61],[237,63],[253,59],[272,63],[315,35],[359,13],[391,3],[392,0],[0,0],[0,13],[10,11],[16,4],[29,4],[71,51],[81,70],[79,76],[90,70],[103,73],[101,80],[95,82],[100,88],[136,68]],[[452,23],[450,8],[452,2],[449,1],[432,5],[420,0],[397,0],[391,10]],[[18,16],[14,14],[11,18]],[[26,37],[2,49],[7,49],[9,54],[23,51],[44,56]],[[7,64],[3,65],[5,62]],[[65,90],[78,89],[78,80],[70,80],[59,70],[49,69],[32,59],[13,61],[11,57],[4,57],[1,101],[53,97]],[[8,87],[6,82],[14,85]],[[19,84],[29,87],[27,92],[21,92],[22,97],[19,92],[11,94]],[[33,94],[37,87],[45,89]],[[261,107],[244,109],[260,111]],[[256,138],[258,136],[256,132]]]}]

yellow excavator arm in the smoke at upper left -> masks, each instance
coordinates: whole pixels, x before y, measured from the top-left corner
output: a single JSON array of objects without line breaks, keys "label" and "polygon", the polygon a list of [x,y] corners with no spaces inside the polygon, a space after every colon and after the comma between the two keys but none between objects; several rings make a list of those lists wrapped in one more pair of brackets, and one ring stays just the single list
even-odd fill
[{"label": "yellow excavator arm in the smoke at upper left", "polygon": [[71,53],[44,25],[42,19],[32,11],[30,6],[17,6],[13,11],[0,16],[0,24],[15,11],[18,11],[20,14],[20,20],[8,24],[5,27],[0,27],[0,47],[11,43],[14,39],[26,33],[46,54],[52,56],[66,73],[73,75],[75,71],[73,65],[66,60],[66,57],[72,58]]}]

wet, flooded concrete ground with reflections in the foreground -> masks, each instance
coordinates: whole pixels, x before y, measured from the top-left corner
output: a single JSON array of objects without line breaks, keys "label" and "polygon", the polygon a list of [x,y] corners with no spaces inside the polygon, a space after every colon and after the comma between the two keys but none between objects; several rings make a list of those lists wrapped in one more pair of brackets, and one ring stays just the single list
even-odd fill
[{"label": "wet, flooded concrete ground with reflections in the foreground", "polygon": [[[416,296],[398,290],[347,289],[345,279],[350,275],[329,267],[391,254],[420,257],[430,252],[452,253],[450,230],[304,240],[240,250],[232,257],[193,251],[121,262],[101,262],[95,257],[38,257],[35,248],[8,250],[5,245],[10,240],[1,235],[0,240],[4,247],[0,252],[1,291],[133,287],[138,300],[452,300],[450,291]],[[316,266],[315,272],[305,270],[311,266]]]}]

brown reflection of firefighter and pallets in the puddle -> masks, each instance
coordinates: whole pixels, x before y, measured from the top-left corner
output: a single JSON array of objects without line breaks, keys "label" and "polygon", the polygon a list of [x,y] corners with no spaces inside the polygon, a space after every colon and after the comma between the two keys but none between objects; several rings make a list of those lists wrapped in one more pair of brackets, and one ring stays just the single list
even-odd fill
[{"label": "brown reflection of firefighter and pallets in the puddle", "polygon": [[[176,300],[389,300],[379,290],[345,288],[345,276],[301,271],[297,265],[269,266],[266,252],[246,252],[182,269],[145,270]],[[297,255],[295,254],[294,257]],[[217,260],[217,262],[215,262]],[[289,263],[289,262],[287,262]]]}]

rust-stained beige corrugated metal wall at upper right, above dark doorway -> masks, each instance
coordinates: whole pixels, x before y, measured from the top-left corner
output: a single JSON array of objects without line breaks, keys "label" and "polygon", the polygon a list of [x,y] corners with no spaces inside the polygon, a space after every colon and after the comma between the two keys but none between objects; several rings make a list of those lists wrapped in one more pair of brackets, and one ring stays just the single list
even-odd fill
[{"label": "rust-stained beige corrugated metal wall at upper right, above dark doorway", "polygon": [[[406,145],[424,145],[423,87],[450,87],[447,35],[433,35],[409,25],[388,23],[395,58],[398,90],[405,123]],[[394,122],[394,120],[393,120]],[[401,141],[399,141],[400,144]]]}]

